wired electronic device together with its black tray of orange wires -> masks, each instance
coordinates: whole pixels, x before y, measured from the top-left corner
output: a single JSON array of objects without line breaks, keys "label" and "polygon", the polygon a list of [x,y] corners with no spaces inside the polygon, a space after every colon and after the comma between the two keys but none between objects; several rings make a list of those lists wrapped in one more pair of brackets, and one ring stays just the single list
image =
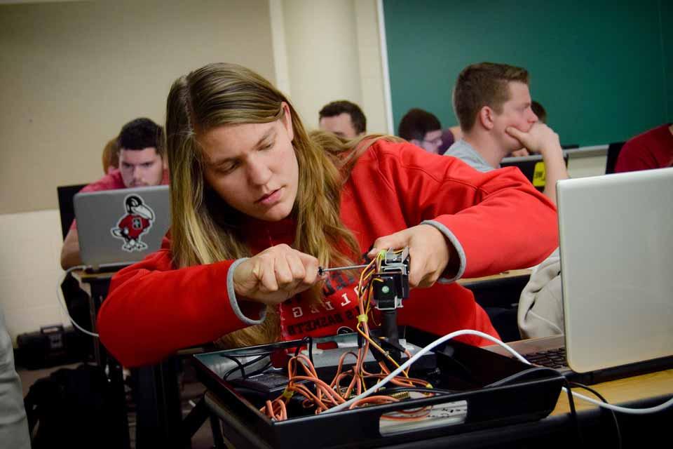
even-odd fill
[{"label": "wired electronic device together with its black tray of orange wires", "polygon": [[[290,448],[306,434],[320,447],[392,443],[550,413],[563,380],[556,371],[460,342],[430,347],[435,336],[413,328],[398,332],[409,262],[408,248],[384,250],[362,270],[357,333],[196,354],[200,380],[226,404],[224,415],[268,445]],[[368,324],[377,314],[380,333]],[[524,390],[533,398],[519,401]]]}]

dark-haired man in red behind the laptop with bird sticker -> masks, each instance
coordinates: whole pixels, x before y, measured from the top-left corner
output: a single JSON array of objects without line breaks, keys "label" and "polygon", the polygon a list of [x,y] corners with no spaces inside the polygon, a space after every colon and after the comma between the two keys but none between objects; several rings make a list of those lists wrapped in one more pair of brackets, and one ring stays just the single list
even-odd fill
[{"label": "dark-haired man in red behind the laptop with bird sticker", "polygon": [[[111,170],[80,192],[168,184],[164,141],[163,128],[150,119],[140,118],[126,123],[118,137],[119,168]],[[63,241],[61,267],[68,269],[79,264],[79,234],[73,221]]]}]

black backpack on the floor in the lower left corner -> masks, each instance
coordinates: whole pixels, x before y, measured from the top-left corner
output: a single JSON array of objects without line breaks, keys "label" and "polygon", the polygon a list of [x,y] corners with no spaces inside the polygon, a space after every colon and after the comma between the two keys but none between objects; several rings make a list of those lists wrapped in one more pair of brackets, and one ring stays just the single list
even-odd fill
[{"label": "black backpack on the floor in the lower left corner", "polygon": [[61,368],[36,381],[24,399],[32,448],[123,447],[125,410],[114,399],[97,366]]}]

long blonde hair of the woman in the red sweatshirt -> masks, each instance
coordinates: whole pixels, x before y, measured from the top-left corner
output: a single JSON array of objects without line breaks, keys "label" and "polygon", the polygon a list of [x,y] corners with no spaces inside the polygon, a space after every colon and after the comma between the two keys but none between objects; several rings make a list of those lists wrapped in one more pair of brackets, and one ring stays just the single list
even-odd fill
[{"label": "long blonde hair of the woman in the red sweatshirt", "polygon": [[[263,77],[239,65],[201,67],[173,83],[168,94],[166,135],[170,167],[172,257],[175,267],[210,264],[250,255],[240,227],[242,214],[205,184],[203,152],[198,135],[223,125],[269,123],[290,107],[299,165],[299,187],[292,209],[297,223],[293,248],[314,255],[322,266],[350,264],[358,243],[339,217],[344,178],[339,170],[352,166],[354,144],[325,134],[309,138],[299,114],[285,95]],[[358,147],[357,153],[361,153]],[[222,287],[226,288],[226,287]],[[320,300],[320,286],[302,295]],[[278,340],[278,316],[268,307],[267,319],[223,337],[229,347]]]}]

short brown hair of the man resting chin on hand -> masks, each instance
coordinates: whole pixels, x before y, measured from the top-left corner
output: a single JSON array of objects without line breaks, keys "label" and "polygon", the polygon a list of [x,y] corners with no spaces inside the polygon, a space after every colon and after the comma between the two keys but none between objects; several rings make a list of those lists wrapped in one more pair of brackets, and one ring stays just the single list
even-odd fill
[{"label": "short brown hair of the man resting chin on hand", "polygon": [[463,69],[454,88],[454,112],[463,132],[475,126],[482,107],[501,112],[503,103],[509,100],[508,83],[512,81],[528,84],[528,71],[496,62],[480,62]]}]

